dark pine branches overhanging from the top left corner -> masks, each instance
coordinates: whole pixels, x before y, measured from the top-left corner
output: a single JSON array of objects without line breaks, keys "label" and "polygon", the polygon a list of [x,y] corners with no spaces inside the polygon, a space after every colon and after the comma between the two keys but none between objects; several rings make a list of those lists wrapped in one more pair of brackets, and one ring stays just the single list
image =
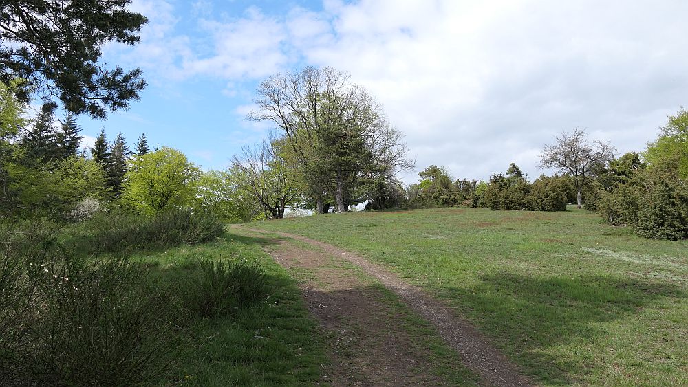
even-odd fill
[{"label": "dark pine branches overhanging from the top left corner", "polygon": [[129,0],[14,0],[0,3],[0,81],[25,82],[14,93],[48,102],[58,97],[67,111],[104,118],[106,109],[128,107],[145,83],[141,71],[108,69],[100,47],[133,45],[147,19],[125,7]]}]

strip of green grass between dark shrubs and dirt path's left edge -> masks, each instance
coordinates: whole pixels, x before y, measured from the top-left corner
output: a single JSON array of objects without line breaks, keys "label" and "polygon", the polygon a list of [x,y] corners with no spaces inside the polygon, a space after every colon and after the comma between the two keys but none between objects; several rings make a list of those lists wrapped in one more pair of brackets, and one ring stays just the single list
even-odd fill
[{"label": "strip of green grass between dark shrubs and dirt path's left edge", "polygon": [[186,332],[172,380],[191,386],[309,385],[319,382],[324,337],[301,299],[297,283],[261,245],[266,239],[227,234],[220,241],[133,256],[151,276],[183,292],[199,259],[257,262],[270,296],[233,316],[197,320]]}]

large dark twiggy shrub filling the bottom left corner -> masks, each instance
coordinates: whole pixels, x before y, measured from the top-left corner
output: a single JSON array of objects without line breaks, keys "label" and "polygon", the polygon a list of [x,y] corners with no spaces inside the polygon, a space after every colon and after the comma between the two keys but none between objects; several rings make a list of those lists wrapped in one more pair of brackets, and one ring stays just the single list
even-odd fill
[{"label": "large dark twiggy shrub filling the bottom left corner", "polygon": [[127,260],[65,254],[50,225],[0,236],[1,385],[133,385],[164,373],[170,294]]}]

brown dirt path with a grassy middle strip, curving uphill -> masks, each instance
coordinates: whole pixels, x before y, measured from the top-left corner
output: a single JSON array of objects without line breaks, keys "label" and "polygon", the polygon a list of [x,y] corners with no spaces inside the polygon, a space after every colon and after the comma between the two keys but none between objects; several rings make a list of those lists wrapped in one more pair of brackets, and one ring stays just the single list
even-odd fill
[{"label": "brown dirt path with a grassy middle strip, curving uphill", "polygon": [[[504,355],[469,322],[458,317],[453,309],[427,296],[420,288],[405,283],[387,269],[304,236],[240,225],[235,229],[263,235],[277,234],[321,250],[284,241],[277,241],[275,247],[269,249],[278,263],[299,270],[307,278],[304,298],[323,327],[337,338],[333,366],[325,379],[333,385],[439,386],[457,384],[457,377],[464,377],[464,382],[471,384],[469,373],[455,375],[454,379],[444,375],[447,370],[460,373],[456,368],[462,366],[479,375],[483,384],[530,385],[530,381],[520,375]],[[356,270],[361,273],[356,274]],[[383,302],[385,289],[380,289],[380,283],[394,291],[402,301],[401,307],[409,309],[406,313],[399,307],[390,306],[389,302]],[[404,316],[414,315],[413,311],[434,327],[424,337],[419,333],[423,330],[409,325]],[[447,356],[438,357],[431,353],[425,343],[433,340],[435,334],[458,353],[458,364],[452,364]],[[444,372],[436,362],[443,362]]]}]

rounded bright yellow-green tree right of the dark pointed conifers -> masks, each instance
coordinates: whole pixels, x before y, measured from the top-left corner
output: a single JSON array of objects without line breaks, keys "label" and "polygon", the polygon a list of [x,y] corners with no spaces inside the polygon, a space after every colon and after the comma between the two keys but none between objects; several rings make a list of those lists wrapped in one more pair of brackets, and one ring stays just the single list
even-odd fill
[{"label": "rounded bright yellow-green tree right of the dark pointed conifers", "polygon": [[131,160],[122,200],[144,214],[191,206],[200,170],[184,153],[163,146]]}]

